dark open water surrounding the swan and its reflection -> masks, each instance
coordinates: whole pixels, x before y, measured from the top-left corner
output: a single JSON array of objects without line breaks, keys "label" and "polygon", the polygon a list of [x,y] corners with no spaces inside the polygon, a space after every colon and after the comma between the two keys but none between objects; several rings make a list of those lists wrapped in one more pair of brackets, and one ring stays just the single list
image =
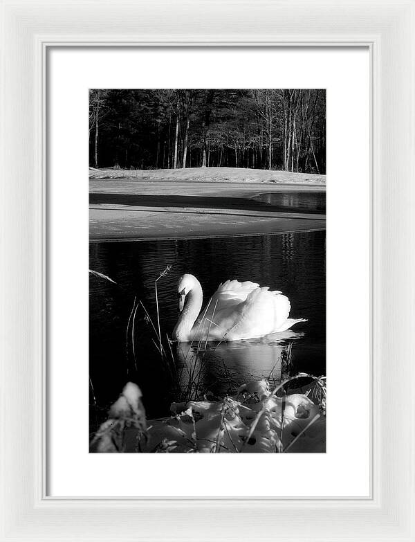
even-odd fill
[{"label": "dark open water surrounding the swan and its reflection", "polygon": [[[291,300],[291,317],[308,318],[289,332],[251,341],[206,345],[207,370],[203,388],[214,394],[281,370],[282,348],[293,343],[293,371],[325,374],[326,274],[325,231],[202,240],[149,240],[90,244],[90,269],[109,275],[117,284],[90,279],[90,375],[98,413],[114,401],[128,380],[143,392],[149,417],[167,415],[171,381],[160,363],[154,331],[139,307],[134,321],[136,365],[131,343],[126,352],[126,329],[134,298],[141,300],[157,322],[154,281],[158,280],[160,328],[172,334],[178,317],[176,282],[183,273],[199,278],[205,301],[228,278],[252,280],[279,289]],[[131,327],[131,326],[130,326]],[[174,346],[175,348],[175,346]],[[192,359],[182,345],[178,364]],[[186,361],[183,359],[187,356]],[[185,372],[183,373],[185,374]],[[225,376],[224,376],[225,375]],[[93,396],[91,394],[91,403]],[[96,422],[99,415],[94,409]],[[91,425],[93,425],[91,416]]]}]

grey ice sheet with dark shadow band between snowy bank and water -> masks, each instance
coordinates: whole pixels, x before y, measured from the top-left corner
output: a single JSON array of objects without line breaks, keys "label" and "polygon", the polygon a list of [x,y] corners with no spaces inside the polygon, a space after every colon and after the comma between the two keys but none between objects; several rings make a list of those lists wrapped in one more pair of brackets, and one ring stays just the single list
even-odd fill
[{"label": "grey ice sheet with dark shadow band between snowy bank and water", "polygon": [[90,181],[89,240],[200,239],[321,231],[325,215],[266,194],[325,192],[325,186],[190,181]]}]

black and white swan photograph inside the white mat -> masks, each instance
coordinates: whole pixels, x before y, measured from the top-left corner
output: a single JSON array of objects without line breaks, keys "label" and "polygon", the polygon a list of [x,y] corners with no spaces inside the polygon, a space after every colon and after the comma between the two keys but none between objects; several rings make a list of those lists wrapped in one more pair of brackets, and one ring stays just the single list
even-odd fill
[{"label": "black and white swan photograph inside the white mat", "polygon": [[325,89],[90,89],[91,453],[325,453],[326,388]]}]

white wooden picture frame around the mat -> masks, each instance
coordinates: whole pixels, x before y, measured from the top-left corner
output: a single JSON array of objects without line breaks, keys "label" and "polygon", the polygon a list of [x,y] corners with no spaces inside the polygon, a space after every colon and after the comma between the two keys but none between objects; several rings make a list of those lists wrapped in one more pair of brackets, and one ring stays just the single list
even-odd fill
[{"label": "white wooden picture frame around the mat", "polygon": [[[1,21],[1,540],[415,541],[414,1],[8,0]],[[369,48],[371,498],[46,496],[45,59],[56,45]]]}]

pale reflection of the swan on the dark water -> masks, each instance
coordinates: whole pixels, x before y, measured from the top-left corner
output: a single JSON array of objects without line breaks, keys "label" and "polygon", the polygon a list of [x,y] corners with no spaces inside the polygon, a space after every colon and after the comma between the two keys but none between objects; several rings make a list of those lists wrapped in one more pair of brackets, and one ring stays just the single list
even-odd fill
[{"label": "pale reflection of the swan on the dark water", "polygon": [[223,395],[234,392],[247,377],[279,381],[287,370],[287,348],[303,336],[288,329],[243,341],[176,343],[179,384],[182,389],[192,388],[194,395],[199,390]]}]

